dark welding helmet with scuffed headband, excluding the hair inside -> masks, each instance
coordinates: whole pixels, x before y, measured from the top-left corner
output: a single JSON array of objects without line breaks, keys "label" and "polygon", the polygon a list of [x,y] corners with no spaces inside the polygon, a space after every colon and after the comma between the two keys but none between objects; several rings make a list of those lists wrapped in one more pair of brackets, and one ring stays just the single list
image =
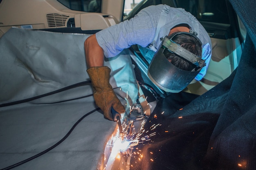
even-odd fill
[{"label": "dark welding helmet with scuffed headband, excluding the hair inside", "polygon": [[[179,32],[171,38],[166,36],[148,67],[148,77],[150,80],[162,90],[171,93],[179,93],[186,88],[195,76],[198,75],[202,67],[205,66],[205,60],[202,60],[201,56],[191,53],[172,40],[175,36],[180,34],[188,34],[195,37],[202,47],[202,42],[192,33]],[[182,60],[193,64],[193,69],[186,71],[176,67],[168,61],[164,55],[164,50],[168,50],[182,58]]]}]

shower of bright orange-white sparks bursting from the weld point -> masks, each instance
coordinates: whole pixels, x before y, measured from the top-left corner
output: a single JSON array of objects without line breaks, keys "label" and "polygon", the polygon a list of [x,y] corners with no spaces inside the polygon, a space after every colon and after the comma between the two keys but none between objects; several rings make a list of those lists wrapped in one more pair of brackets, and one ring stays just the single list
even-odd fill
[{"label": "shower of bright orange-white sparks bursting from the weld point", "polygon": [[[128,96],[128,92],[126,93]],[[130,106],[130,111],[132,111],[136,106]],[[182,110],[181,108],[180,110]],[[164,114],[164,111],[161,113],[161,115]],[[154,119],[157,119],[157,115],[153,115]],[[181,119],[182,116],[178,117],[178,119]],[[151,120],[149,121],[149,123]],[[120,159],[122,155],[126,155],[127,157],[134,157],[135,161],[134,163],[138,163],[140,161],[143,161],[143,159],[146,159],[146,157],[143,157],[142,151],[139,150],[137,147],[138,144],[142,145],[150,145],[154,141],[151,139],[151,137],[157,135],[157,132],[155,131],[157,127],[162,126],[162,124],[153,124],[150,126],[149,129],[145,130],[144,125],[146,124],[145,119],[141,121],[141,124],[137,126],[138,129],[135,129],[135,126],[133,125],[133,121],[129,121],[128,124],[123,122],[122,128],[124,133],[124,140],[121,140],[119,137],[119,129],[117,129],[116,135],[112,135],[112,138],[110,139],[110,144],[108,144],[108,147],[111,147],[111,154],[108,158],[108,163],[106,164],[106,170],[111,169],[108,166],[112,167],[112,163],[115,161],[115,159]],[[168,130],[164,130],[165,133],[168,133]],[[159,150],[160,152],[160,150]],[[154,154],[153,152],[150,152],[150,157],[148,158],[150,161],[154,161]],[[109,161],[110,160],[110,161]],[[130,167],[133,167],[134,165],[130,165]],[[239,166],[239,165],[238,165]]]}]

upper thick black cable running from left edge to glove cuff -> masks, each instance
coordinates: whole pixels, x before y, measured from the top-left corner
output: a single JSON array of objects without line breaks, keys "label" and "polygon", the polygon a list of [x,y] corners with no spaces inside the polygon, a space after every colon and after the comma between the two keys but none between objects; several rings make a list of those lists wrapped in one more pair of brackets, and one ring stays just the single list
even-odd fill
[{"label": "upper thick black cable running from left edge to glove cuff", "polygon": [[0,104],[0,107],[6,107],[6,106],[15,105],[15,104],[21,104],[21,103],[25,103],[25,102],[30,102],[32,100],[39,99],[41,97],[45,97],[45,96],[48,96],[48,95],[53,95],[53,94],[56,94],[56,93],[60,93],[62,91],[66,91],[66,90],[69,90],[69,89],[72,89],[72,88],[76,88],[76,87],[79,87],[79,86],[85,86],[85,85],[88,85],[90,83],[91,83],[90,80],[89,81],[85,81],[85,82],[79,82],[79,83],[72,84],[70,86],[66,86],[64,88],[58,89],[56,91],[45,93],[43,95],[38,95],[38,96],[35,96],[35,97],[31,97],[31,98],[27,98],[27,99],[22,99],[22,100],[18,100],[18,101],[15,101],[15,102]]}]

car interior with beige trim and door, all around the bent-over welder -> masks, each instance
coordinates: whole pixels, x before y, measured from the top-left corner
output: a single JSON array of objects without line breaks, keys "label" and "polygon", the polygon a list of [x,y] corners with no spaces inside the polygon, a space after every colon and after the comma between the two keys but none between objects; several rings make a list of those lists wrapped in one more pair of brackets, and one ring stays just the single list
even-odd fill
[{"label": "car interior with beige trim and door, all around the bent-over welder", "polygon": [[[149,5],[167,4],[171,7],[184,8],[193,14],[205,27],[212,41],[213,51],[207,74],[202,80],[189,84],[184,91],[202,95],[227,78],[239,64],[246,33],[227,0],[218,0],[218,2],[216,0],[186,0],[186,2],[142,0],[128,15],[124,13],[124,3],[119,0],[101,1],[100,13],[87,12],[89,2],[89,0],[2,0],[0,37],[12,26],[62,33],[93,34],[122,20],[132,18]],[[5,15],[8,11],[12,11],[12,14]],[[143,60],[136,45],[130,50]]]}]

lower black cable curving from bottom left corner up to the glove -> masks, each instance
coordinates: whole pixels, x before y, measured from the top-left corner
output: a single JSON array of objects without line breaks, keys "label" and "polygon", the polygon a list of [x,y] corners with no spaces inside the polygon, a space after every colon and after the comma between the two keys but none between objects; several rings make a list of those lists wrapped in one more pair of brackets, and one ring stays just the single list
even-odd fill
[{"label": "lower black cable curving from bottom left corner up to the glove", "polygon": [[15,167],[20,166],[20,165],[22,165],[22,164],[24,164],[24,163],[27,163],[28,161],[31,161],[31,160],[33,160],[33,159],[36,159],[37,157],[40,157],[41,155],[43,155],[43,154],[49,152],[50,150],[52,150],[53,148],[55,148],[56,146],[58,146],[59,144],[61,144],[65,139],[67,139],[67,137],[71,134],[71,132],[74,130],[74,128],[75,128],[86,116],[88,116],[88,115],[94,113],[94,112],[97,111],[97,110],[99,110],[99,108],[96,108],[96,109],[94,109],[94,110],[92,110],[92,111],[86,113],[85,115],[83,115],[83,117],[81,117],[78,121],[76,121],[76,123],[72,126],[72,128],[70,129],[70,131],[68,131],[67,134],[66,134],[60,141],[58,141],[56,144],[54,144],[54,145],[51,146],[50,148],[44,150],[43,152],[38,153],[37,155],[34,155],[34,156],[32,156],[32,157],[30,157],[30,158],[28,158],[28,159],[25,159],[25,160],[23,160],[23,161],[20,161],[20,162],[18,162],[18,163],[15,163],[15,164],[13,164],[13,165],[11,165],[11,166],[8,166],[8,167],[6,167],[6,168],[3,168],[3,169],[1,169],[1,170],[10,170],[10,169],[12,169],[12,168],[15,168]]}]

